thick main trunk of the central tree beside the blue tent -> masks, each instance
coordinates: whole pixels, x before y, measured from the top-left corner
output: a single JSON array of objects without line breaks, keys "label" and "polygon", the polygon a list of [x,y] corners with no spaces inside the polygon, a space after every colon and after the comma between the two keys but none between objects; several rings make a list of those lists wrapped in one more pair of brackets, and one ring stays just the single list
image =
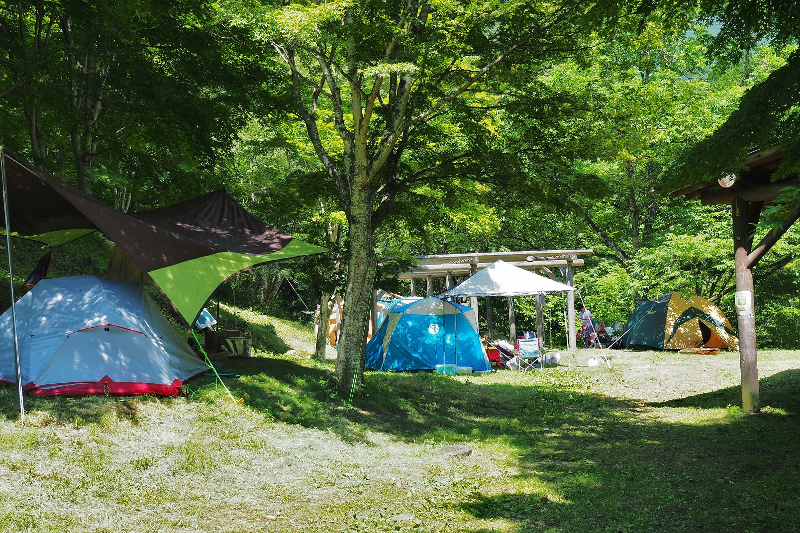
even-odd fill
[{"label": "thick main trunk of the central tree beside the blue tent", "polygon": [[347,261],[342,336],[336,357],[336,374],[342,390],[350,387],[354,376],[358,376],[355,378],[357,384],[363,380],[361,360],[375,276],[372,211],[370,180],[365,174],[357,175],[350,194],[350,257]]}]

